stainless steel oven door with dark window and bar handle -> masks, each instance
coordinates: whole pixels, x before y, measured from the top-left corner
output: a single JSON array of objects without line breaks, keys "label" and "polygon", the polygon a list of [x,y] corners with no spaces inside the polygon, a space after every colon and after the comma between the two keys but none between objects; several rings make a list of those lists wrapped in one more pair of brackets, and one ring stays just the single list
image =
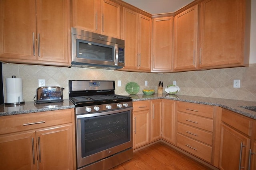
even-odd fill
[{"label": "stainless steel oven door with dark window and bar handle", "polygon": [[132,148],[132,110],[77,115],[78,168]]}]

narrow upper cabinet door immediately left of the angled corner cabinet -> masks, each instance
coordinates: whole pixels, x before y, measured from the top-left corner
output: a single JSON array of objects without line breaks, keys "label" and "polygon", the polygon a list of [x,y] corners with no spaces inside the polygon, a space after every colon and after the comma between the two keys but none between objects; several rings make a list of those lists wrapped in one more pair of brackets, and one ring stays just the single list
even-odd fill
[{"label": "narrow upper cabinet door immediately left of the angled corner cabinet", "polygon": [[151,18],[139,14],[138,66],[139,70],[150,71]]}]

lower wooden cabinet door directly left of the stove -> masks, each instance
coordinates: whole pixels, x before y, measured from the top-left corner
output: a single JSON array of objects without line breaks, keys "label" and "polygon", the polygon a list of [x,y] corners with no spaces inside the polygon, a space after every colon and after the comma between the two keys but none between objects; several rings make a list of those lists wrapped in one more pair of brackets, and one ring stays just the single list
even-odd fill
[{"label": "lower wooden cabinet door directly left of the stove", "polygon": [[36,131],[40,170],[72,170],[72,125]]}]

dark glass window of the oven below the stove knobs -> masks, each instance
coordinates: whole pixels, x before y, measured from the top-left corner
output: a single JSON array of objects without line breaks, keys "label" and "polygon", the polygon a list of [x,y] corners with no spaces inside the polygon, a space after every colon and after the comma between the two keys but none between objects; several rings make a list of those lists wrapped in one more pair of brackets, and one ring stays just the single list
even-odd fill
[{"label": "dark glass window of the oven below the stove knobs", "polygon": [[82,157],[130,141],[131,113],[81,118]]}]

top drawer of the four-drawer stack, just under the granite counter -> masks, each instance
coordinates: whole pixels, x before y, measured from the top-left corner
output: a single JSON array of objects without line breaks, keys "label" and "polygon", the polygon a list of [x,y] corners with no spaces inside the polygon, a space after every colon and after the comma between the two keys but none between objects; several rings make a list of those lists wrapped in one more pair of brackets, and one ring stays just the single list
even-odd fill
[{"label": "top drawer of the four-drawer stack, just under the granite counter", "polygon": [[213,118],[214,107],[203,104],[178,102],[178,111]]}]

